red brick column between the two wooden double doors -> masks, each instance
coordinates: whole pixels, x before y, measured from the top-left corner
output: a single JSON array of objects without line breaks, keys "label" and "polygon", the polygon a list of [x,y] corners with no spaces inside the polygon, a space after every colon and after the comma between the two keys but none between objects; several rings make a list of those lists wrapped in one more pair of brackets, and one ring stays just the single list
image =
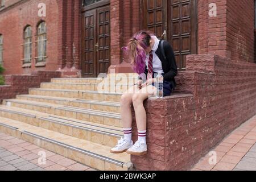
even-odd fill
[{"label": "red brick column between the two wooden double doors", "polygon": [[[133,72],[128,57],[121,48],[139,30],[139,1],[110,1],[111,66],[115,73]],[[118,52],[118,53],[117,53]]]}]

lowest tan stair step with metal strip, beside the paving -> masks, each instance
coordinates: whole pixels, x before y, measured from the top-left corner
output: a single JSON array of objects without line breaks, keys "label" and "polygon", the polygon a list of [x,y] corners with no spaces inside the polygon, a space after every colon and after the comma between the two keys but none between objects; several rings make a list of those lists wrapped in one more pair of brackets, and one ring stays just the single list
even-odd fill
[{"label": "lowest tan stair step with metal strip, beside the paving", "polygon": [[130,155],[126,153],[111,154],[109,146],[46,130],[18,120],[0,117],[0,131],[102,171],[126,171],[132,167]]}]

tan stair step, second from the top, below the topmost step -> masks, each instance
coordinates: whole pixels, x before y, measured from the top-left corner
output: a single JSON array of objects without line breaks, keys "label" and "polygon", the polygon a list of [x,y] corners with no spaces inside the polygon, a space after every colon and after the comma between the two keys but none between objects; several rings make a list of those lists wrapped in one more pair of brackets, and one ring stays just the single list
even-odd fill
[{"label": "tan stair step, second from the top, below the topmost step", "polygon": [[40,88],[42,89],[65,89],[65,90],[89,90],[89,91],[104,91],[112,93],[123,93],[127,89],[133,86],[133,84],[95,84],[95,83],[42,83]]}]

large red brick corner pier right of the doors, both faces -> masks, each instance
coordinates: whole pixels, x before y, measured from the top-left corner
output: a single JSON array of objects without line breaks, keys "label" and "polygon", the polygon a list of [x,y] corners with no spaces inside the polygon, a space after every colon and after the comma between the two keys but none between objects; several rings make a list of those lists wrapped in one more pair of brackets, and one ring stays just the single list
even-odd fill
[{"label": "large red brick corner pier right of the doors, both faces", "polygon": [[[216,3],[216,17],[208,15],[209,3]],[[199,54],[254,62],[254,0],[199,0],[198,22]]]}]

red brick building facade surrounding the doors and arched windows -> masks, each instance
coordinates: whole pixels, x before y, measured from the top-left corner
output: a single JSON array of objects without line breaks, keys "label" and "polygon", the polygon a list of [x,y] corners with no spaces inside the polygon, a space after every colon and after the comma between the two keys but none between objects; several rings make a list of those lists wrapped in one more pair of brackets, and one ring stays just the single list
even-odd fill
[{"label": "red brick building facade surrounding the doors and arched windows", "polygon": [[[38,16],[38,4],[46,4],[46,17]],[[127,57],[120,51],[134,32],[142,27],[140,1],[110,2],[110,68],[130,72]],[[254,62],[254,0],[198,0],[198,53],[216,54],[232,60]],[[209,3],[216,3],[217,16],[209,16]],[[81,69],[81,2],[7,0],[0,11],[0,34],[3,35],[5,75],[31,73],[35,70],[55,71],[80,76]],[[36,67],[36,26],[47,23],[47,61]],[[11,22],[11,23],[10,23]],[[32,26],[32,65],[22,68],[23,30]],[[196,25],[191,25],[196,26]],[[75,74],[75,75],[74,75]]]}]

